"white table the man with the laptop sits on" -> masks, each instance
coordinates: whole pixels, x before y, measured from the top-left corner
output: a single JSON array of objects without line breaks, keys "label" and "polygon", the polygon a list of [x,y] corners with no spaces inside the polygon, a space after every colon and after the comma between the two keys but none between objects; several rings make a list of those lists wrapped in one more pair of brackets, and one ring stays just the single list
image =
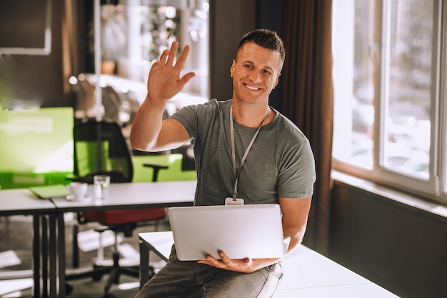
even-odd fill
[{"label": "white table the man with the laptop sits on", "polygon": [[[167,261],[174,243],[172,232],[139,233],[140,289],[149,280],[149,251]],[[397,296],[318,252],[299,245],[282,261],[284,276],[275,298]]]}]

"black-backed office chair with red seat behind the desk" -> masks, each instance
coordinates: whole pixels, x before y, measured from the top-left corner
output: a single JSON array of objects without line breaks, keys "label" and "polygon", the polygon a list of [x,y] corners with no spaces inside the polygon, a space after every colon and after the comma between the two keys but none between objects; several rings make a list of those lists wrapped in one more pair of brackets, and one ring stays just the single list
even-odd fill
[{"label": "black-backed office chair with red seat behind the desk", "polygon": [[[157,180],[160,169],[167,169],[164,165],[145,164],[152,167],[154,174],[152,181]],[[131,161],[129,145],[121,133],[121,127],[116,122],[86,121],[74,126],[74,180],[93,183],[96,174],[107,174],[111,177],[111,183],[132,182],[134,169]],[[104,297],[111,297],[109,293],[111,285],[119,282],[120,274],[128,274],[139,277],[138,267],[121,267],[119,265],[119,252],[117,249],[117,234],[124,233],[125,237],[131,237],[133,230],[141,223],[153,222],[155,230],[158,229],[160,219],[166,217],[166,209],[124,209],[98,212],[79,212],[78,221],[99,222],[104,225],[97,232],[111,229],[115,234],[112,266],[94,264],[91,272],[67,275],[67,281],[84,277],[101,279],[104,274],[109,274],[109,279],[104,287]],[[74,228],[73,267],[79,266],[79,248],[77,246],[77,226]],[[101,249],[101,248],[100,248]],[[100,257],[100,256],[99,256]],[[67,292],[70,292],[67,285]]]}]

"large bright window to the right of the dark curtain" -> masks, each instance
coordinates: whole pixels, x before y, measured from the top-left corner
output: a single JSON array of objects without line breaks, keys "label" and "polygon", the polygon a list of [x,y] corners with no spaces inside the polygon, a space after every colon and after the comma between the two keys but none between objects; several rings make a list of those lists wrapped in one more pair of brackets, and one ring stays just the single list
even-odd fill
[{"label": "large bright window to the right of the dark curtain", "polygon": [[334,168],[447,203],[446,7],[333,3]]}]

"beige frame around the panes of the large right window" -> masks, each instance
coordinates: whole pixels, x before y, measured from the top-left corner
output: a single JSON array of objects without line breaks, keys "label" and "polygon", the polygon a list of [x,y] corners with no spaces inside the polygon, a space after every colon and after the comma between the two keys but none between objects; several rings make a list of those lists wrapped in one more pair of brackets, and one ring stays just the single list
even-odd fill
[{"label": "beige frame around the panes of the large right window", "polygon": [[[338,0],[340,1],[340,0]],[[355,0],[351,1],[351,4]],[[441,0],[433,0],[433,36],[431,52],[431,146],[428,165],[428,180],[406,176],[383,167],[383,146],[386,136],[384,115],[386,115],[386,69],[389,59],[387,39],[389,36],[389,14],[391,1],[376,1],[374,16],[373,41],[370,41],[370,59],[373,59],[373,80],[375,93],[373,96],[373,169],[357,167],[348,162],[333,158],[333,169],[338,172],[367,179],[403,192],[416,194],[428,200],[447,203],[447,5]],[[334,18],[335,19],[335,18]],[[446,36],[446,38],[444,38]],[[351,37],[353,39],[353,37]],[[336,42],[336,41],[335,41]],[[334,81],[336,82],[336,80]],[[336,88],[336,85],[334,85]],[[337,111],[335,109],[335,111]],[[334,117],[335,119],[335,117]],[[334,137],[336,134],[334,134]],[[443,178],[443,181],[441,181]]]}]

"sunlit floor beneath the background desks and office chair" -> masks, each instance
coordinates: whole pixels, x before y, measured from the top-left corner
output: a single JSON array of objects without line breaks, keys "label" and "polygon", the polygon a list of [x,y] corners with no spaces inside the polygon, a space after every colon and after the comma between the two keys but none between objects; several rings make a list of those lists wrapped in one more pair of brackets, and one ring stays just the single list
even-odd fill
[{"label": "sunlit floor beneath the background desks and office chair", "polygon": [[[80,245],[80,269],[73,269],[71,264],[71,231],[76,223],[74,214],[66,214],[66,259],[69,272],[88,271],[97,257],[96,248],[99,246],[97,232],[94,231],[98,224],[84,224],[79,226]],[[26,297],[31,298],[31,232],[32,217],[12,216],[0,217],[0,297]],[[125,264],[139,264],[139,232],[151,232],[154,227],[138,227],[132,237],[120,237],[120,252]],[[161,222],[159,230],[169,229],[169,222]],[[109,231],[110,232],[110,231]],[[113,233],[106,232],[103,236],[104,262],[111,262]],[[151,255],[154,267],[163,266],[163,262]],[[6,279],[5,275],[11,272],[19,274],[18,279]],[[70,281],[73,291],[69,298],[99,298],[103,296],[103,288],[106,281],[104,276],[99,282],[91,278]],[[119,284],[114,284],[111,293],[115,297],[134,298],[139,288],[139,280],[134,277],[122,276]]]}]

